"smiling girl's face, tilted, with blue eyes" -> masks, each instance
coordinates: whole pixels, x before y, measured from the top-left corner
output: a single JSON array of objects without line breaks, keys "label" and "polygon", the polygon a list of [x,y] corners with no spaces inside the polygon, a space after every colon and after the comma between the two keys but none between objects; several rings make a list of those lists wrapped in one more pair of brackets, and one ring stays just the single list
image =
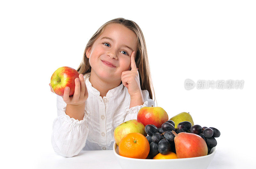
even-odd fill
[{"label": "smiling girl's face, tilted, with blue eyes", "polygon": [[86,51],[92,67],[91,74],[105,81],[121,82],[122,72],[131,70],[132,51],[137,53],[136,40],[136,34],[125,26],[109,24]]}]

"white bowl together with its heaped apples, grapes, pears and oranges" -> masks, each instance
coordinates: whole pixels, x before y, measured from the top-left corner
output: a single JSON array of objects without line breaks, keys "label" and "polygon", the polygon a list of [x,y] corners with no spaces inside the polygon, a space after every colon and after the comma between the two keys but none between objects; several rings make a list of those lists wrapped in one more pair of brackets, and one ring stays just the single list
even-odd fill
[{"label": "white bowl together with its heaped apples, grapes, pears and oranges", "polygon": [[[178,115],[179,118],[170,120],[167,115],[167,119],[157,120],[158,123],[137,117],[137,120],[117,126],[113,151],[121,167],[207,168],[215,155],[215,137],[220,137],[220,131],[194,125],[191,115],[186,112]],[[161,114],[157,116],[161,117]],[[190,118],[180,118],[184,116]]]}]

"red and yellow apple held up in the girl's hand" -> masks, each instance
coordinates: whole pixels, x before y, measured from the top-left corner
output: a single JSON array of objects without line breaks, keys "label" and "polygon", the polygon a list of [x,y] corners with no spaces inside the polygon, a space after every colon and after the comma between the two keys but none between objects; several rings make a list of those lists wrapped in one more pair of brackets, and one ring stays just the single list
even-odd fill
[{"label": "red and yellow apple held up in the girl's hand", "polygon": [[63,96],[64,89],[69,87],[69,96],[74,95],[75,79],[79,78],[79,73],[71,67],[58,68],[51,77],[51,86],[55,94]]}]

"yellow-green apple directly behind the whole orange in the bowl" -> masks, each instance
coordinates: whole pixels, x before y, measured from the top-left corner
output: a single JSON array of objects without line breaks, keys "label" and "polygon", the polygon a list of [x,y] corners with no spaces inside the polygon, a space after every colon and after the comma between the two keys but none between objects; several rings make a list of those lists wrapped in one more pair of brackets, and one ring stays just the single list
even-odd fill
[{"label": "yellow-green apple directly behind the whole orange in the bowl", "polygon": [[114,130],[114,138],[116,145],[119,145],[120,140],[129,133],[140,133],[143,136],[147,136],[145,132],[145,126],[138,120],[129,120],[122,124],[119,124]]}]

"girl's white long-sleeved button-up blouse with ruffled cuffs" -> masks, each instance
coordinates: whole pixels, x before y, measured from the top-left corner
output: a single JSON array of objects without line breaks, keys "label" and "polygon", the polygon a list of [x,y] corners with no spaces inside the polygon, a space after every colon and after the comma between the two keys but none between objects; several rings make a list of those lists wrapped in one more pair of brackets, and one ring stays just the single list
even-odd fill
[{"label": "girl's white long-sleeved button-up blouse with ruffled cuffs", "polygon": [[[89,73],[90,74],[90,73]],[[88,90],[84,119],[76,120],[66,115],[67,104],[57,95],[58,117],[53,121],[52,147],[64,157],[73,157],[81,150],[113,150],[115,128],[128,120],[137,119],[142,107],[155,107],[148,90],[142,90],[144,104],[130,108],[128,89],[120,84],[103,98],[84,75]]]}]

